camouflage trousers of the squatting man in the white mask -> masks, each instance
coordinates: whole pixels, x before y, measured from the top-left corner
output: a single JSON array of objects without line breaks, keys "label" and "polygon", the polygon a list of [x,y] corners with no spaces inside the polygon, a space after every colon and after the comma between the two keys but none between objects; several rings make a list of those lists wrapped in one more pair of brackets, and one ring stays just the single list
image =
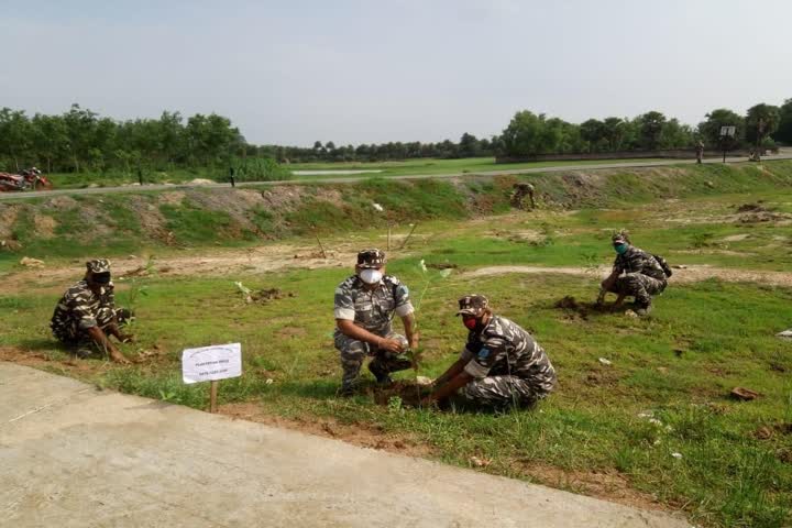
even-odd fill
[{"label": "camouflage trousers of the squatting man in the white mask", "polygon": [[[381,337],[400,341],[405,349],[408,345],[407,338],[399,333],[391,332]],[[341,353],[341,367],[343,369],[341,383],[344,388],[351,388],[358,383],[358,376],[360,376],[360,370],[366,356],[372,358],[369,370],[377,378],[387,376],[392,372],[404,370],[406,360],[393,352],[377,349],[364,341],[344,336],[339,331],[336,332],[334,342],[336,349]]]}]

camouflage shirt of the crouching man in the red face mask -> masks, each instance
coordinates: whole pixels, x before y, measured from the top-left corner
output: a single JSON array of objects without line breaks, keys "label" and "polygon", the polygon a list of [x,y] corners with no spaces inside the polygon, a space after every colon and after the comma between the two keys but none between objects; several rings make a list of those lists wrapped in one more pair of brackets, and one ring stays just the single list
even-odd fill
[{"label": "camouflage shirt of the crouching man in the red face mask", "polygon": [[505,317],[492,316],[484,330],[471,331],[461,358],[470,360],[464,370],[473,377],[513,375],[546,393],[556,385],[556,370],[544,350]]}]

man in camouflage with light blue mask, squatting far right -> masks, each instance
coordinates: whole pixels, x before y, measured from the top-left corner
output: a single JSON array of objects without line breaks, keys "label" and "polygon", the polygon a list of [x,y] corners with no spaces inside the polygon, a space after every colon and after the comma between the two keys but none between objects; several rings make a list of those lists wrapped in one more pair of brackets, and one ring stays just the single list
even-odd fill
[{"label": "man in camouflage with light blue mask, squatting far right", "polygon": [[[607,292],[618,294],[614,309],[622,306],[626,296],[635,297],[636,314],[646,316],[651,311],[652,295],[661,294],[668,285],[668,277],[654,256],[630,244],[626,231],[612,237],[616,260],[613,272],[602,282],[597,304],[602,304]],[[623,275],[624,274],[624,275]]]}]

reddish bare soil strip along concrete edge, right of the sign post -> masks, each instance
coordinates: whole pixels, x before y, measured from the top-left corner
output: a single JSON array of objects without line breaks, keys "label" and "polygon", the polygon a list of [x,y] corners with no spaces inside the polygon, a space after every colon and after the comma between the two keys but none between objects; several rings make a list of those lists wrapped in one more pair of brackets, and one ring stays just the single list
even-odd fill
[{"label": "reddish bare soil strip along concrete edge, right of the sign post", "polygon": [[333,438],[363,448],[408,457],[426,458],[433,454],[433,450],[429,446],[416,441],[408,435],[386,432],[382,427],[367,424],[341,424],[332,418],[283,418],[266,414],[254,403],[221,405],[218,410],[232,418]]}]

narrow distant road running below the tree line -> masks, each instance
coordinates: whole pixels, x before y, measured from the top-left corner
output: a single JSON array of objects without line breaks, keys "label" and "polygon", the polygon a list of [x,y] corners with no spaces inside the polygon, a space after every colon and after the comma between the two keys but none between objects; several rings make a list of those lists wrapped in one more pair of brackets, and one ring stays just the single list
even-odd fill
[{"label": "narrow distant road running below the tree line", "polygon": [[[767,162],[776,160],[792,160],[792,148],[783,148],[780,154],[774,156],[766,156],[763,158]],[[747,157],[727,157],[726,163],[744,163],[747,162]],[[718,164],[722,163],[721,158],[705,160],[706,164]],[[608,163],[608,164],[581,164],[581,165],[562,165],[558,167],[536,167],[536,168],[513,168],[507,170],[482,170],[482,172],[470,172],[470,173],[451,173],[451,174],[408,174],[402,176],[387,176],[387,179],[442,179],[442,178],[459,178],[469,176],[502,176],[506,174],[534,174],[534,173],[558,173],[565,170],[602,170],[607,168],[637,168],[637,167],[664,167],[669,165],[693,165],[695,160],[669,160],[664,162],[641,162],[637,160],[635,162],[620,162],[620,163]],[[296,178],[283,182],[245,182],[237,184],[237,187],[273,187],[276,185],[300,185],[300,184],[351,184],[366,179],[371,176],[342,176],[338,178]],[[176,190],[185,188],[230,188],[230,184],[202,184],[202,185],[190,185],[190,184],[156,184],[156,185],[128,185],[122,187],[88,187],[84,189],[55,189],[55,190],[40,190],[36,193],[0,193],[0,201],[9,200],[24,200],[26,198],[47,198],[52,196],[63,195],[113,195],[118,193],[140,193],[140,191],[161,191],[161,190]]]}]

